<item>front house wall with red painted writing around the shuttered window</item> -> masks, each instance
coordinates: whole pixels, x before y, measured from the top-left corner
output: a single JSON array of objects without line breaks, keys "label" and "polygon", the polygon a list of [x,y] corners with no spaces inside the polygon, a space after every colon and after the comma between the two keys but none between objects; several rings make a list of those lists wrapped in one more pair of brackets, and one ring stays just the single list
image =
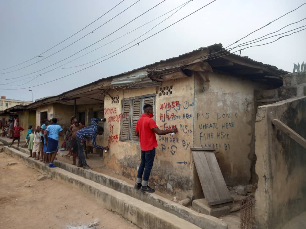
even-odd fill
[{"label": "front house wall with red painted writing around the shuttered window", "polygon": [[[160,129],[169,129],[177,126],[178,133],[171,137],[157,136],[159,146],[156,148],[156,157],[152,169],[150,184],[159,191],[175,194],[183,199],[193,192],[193,166],[190,146],[193,138],[193,77],[164,82],[162,86],[173,86],[172,94],[156,96],[155,119]],[[148,94],[156,94],[159,88],[133,89],[127,93],[118,93],[111,90],[111,96],[131,98]],[[120,90],[121,91],[121,90]],[[122,114],[121,102],[111,104],[109,96],[105,97],[106,123],[104,126],[104,142],[109,145],[110,151],[104,155],[105,166],[115,173],[136,179],[137,167],[140,163],[140,146],[138,141],[122,142],[120,137],[121,118],[109,122],[109,117],[119,117]],[[112,108],[111,110],[107,110]],[[177,163],[179,162],[179,163]]]}]

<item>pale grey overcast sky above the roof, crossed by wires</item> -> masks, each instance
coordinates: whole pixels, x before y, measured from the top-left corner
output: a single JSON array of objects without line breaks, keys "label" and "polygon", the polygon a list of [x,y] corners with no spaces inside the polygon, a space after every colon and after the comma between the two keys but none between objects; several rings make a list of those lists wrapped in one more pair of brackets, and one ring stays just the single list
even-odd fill
[{"label": "pale grey overcast sky above the roof, crossed by wires", "polygon": [[[187,2],[187,0],[166,0],[164,2],[162,2],[163,0],[121,1],[122,0],[0,1],[0,69],[8,68],[0,71],[0,95],[6,96],[10,99],[31,101],[32,94],[29,92],[29,89],[31,89],[33,91],[33,100],[45,96],[55,96],[98,79],[131,71],[147,64],[166,60],[167,58],[179,56],[200,47],[206,47],[215,43],[222,43],[223,47],[226,47],[304,3],[302,0],[217,0],[159,34],[141,42],[139,45],[135,45],[132,48],[105,60],[125,48],[140,42],[144,38],[166,28],[170,24],[173,24],[187,16],[212,0],[193,0],[189,2],[174,15],[141,38],[138,37],[162,20],[166,19],[175,11],[146,24],[147,22]],[[99,20],[95,21],[93,24],[67,39],[60,45],[57,45],[102,16],[119,2],[121,3],[117,7],[105,14]],[[135,2],[137,3],[134,4]],[[154,9],[119,29],[160,2],[162,3]],[[134,5],[112,19],[132,4]],[[305,17],[305,12],[306,4],[273,22],[269,26],[242,39],[241,43],[262,37],[268,33],[277,31],[288,24],[302,20]],[[107,22],[108,20],[110,21]],[[102,24],[104,25],[101,26]],[[146,25],[115,40],[114,42],[111,42],[143,24]],[[290,25],[272,35],[304,25],[306,25],[306,20]],[[99,26],[101,27],[96,29]],[[117,29],[119,30],[116,31]],[[292,32],[287,34],[290,33]],[[87,36],[82,38],[84,35]],[[257,44],[273,41],[280,36],[282,35],[263,40]],[[82,39],[75,42],[79,38]],[[97,42],[100,39],[102,40]],[[132,42],[134,39],[136,40]],[[292,72],[293,63],[301,64],[306,60],[305,40],[306,30],[279,39],[277,42],[272,44],[242,50],[241,56],[248,56],[253,60],[263,62],[264,64],[271,64],[280,69]],[[75,43],[72,44],[73,42]],[[97,43],[92,45],[95,42]],[[108,42],[111,43],[107,44]],[[123,49],[119,49],[129,42],[132,43],[125,46]],[[57,46],[50,49],[54,45]],[[67,45],[70,46],[63,49]],[[89,48],[84,49],[89,45],[91,45]],[[102,45],[104,46],[82,56]],[[50,50],[45,52],[48,49]],[[63,50],[59,51],[61,49]],[[84,50],[80,51],[82,49]],[[119,50],[114,52],[117,49]],[[233,51],[237,50],[239,49],[233,49]],[[114,53],[108,55],[112,52]],[[56,54],[50,56],[53,53]],[[75,53],[77,54],[67,58]],[[40,54],[43,57],[37,57]],[[239,52],[236,54],[239,54]],[[77,57],[80,58],[71,63],[65,64]],[[103,58],[90,64],[86,64],[100,57]],[[12,67],[32,58],[34,59],[31,61]],[[67,59],[63,60],[65,58]],[[101,60],[104,61],[89,67]],[[55,64],[57,62],[59,63]],[[32,65],[26,67],[29,64]],[[72,74],[85,67],[88,68]],[[19,68],[22,69],[18,70]],[[42,70],[43,68],[45,69]],[[69,76],[64,77],[66,75]],[[61,79],[55,80],[57,78]],[[49,83],[43,84],[46,82]],[[35,86],[39,84],[43,85]]]}]

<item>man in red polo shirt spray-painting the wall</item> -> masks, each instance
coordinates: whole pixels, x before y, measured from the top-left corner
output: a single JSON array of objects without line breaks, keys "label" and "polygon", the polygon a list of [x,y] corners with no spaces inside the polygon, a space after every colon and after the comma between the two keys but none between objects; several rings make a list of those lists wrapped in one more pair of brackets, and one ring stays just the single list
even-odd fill
[{"label": "man in red polo shirt spray-painting the wall", "polygon": [[[144,114],[142,114],[137,121],[135,128],[135,135],[139,137],[141,148],[141,163],[138,169],[135,188],[140,189],[141,192],[155,192],[155,189],[149,187],[148,185],[148,180],[155,157],[155,147],[157,147],[155,133],[158,135],[166,135],[168,133],[177,132],[176,127],[170,130],[159,129],[155,121],[152,119],[153,116],[152,105],[145,104]],[[143,179],[142,175],[144,175]]]}]

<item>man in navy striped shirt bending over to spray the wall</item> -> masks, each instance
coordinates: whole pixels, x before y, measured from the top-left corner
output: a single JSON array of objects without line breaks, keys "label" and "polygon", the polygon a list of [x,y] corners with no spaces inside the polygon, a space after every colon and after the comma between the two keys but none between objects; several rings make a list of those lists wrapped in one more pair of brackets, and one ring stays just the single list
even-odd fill
[{"label": "man in navy striped shirt bending over to spray the wall", "polygon": [[[93,147],[100,150],[109,150],[109,147],[98,146],[96,143],[97,135],[102,135],[104,129],[102,126],[99,126],[96,121],[100,121],[100,118],[91,118],[90,126],[86,126],[83,129],[80,129],[76,132],[76,140],[78,144],[78,152],[79,152],[79,163],[77,165],[78,168],[83,167],[85,170],[92,170],[86,163],[85,156],[84,156],[84,142],[86,141],[86,137],[90,137]],[[106,119],[103,118],[101,121],[105,121]]]}]

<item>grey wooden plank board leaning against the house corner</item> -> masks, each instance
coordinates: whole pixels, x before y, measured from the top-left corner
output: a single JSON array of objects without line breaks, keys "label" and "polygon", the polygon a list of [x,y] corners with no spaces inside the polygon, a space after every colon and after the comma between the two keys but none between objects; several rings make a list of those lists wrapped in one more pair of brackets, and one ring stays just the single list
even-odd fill
[{"label": "grey wooden plank board leaning against the house corner", "polygon": [[214,151],[192,148],[192,156],[208,205],[232,202]]}]

